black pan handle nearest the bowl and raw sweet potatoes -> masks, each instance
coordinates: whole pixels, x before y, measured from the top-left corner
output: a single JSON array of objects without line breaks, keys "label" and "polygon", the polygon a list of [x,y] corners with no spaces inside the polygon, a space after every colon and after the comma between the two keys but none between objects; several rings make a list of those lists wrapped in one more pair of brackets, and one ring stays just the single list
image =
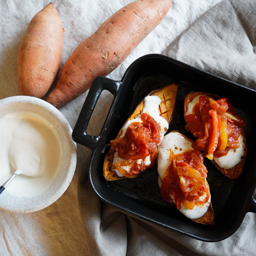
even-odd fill
[{"label": "black pan handle nearest the bowl and raw sweet potatoes", "polygon": [[[93,136],[87,134],[86,132],[93,110],[103,90],[111,92],[115,97],[120,85],[120,81],[115,81],[103,76],[98,76],[93,80],[92,86],[89,89],[88,95],[86,96],[85,102],[72,132],[72,139],[75,142],[82,144],[91,150],[96,148],[97,142],[101,135]],[[102,131],[103,130],[101,130],[101,133]]]}]

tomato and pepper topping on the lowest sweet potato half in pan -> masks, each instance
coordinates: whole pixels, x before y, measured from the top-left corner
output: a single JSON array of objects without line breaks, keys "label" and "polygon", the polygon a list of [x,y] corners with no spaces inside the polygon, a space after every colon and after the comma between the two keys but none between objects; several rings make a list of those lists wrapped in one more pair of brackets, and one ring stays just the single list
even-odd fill
[{"label": "tomato and pepper topping on the lowest sweet potato half in pan", "polygon": [[193,209],[195,205],[208,202],[207,170],[200,151],[191,150],[171,157],[173,161],[160,189],[163,199],[169,204],[173,201],[177,209],[182,205]]}]

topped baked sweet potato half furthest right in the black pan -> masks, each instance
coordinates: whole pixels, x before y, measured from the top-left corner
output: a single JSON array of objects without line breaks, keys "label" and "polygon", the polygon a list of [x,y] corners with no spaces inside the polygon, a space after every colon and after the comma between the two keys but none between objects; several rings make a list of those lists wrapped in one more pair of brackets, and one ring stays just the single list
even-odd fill
[{"label": "topped baked sweet potato half furthest right in the black pan", "polygon": [[184,100],[185,126],[196,145],[230,179],[242,173],[247,154],[245,122],[227,98],[191,92]]}]

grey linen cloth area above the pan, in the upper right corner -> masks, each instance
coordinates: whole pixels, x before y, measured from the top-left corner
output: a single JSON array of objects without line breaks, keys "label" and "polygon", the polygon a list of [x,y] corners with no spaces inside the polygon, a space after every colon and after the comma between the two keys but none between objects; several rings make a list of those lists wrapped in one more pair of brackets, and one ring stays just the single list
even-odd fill
[{"label": "grey linen cloth area above the pan, in the upper right corner", "polygon": [[201,15],[164,55],[255,89],[254,1],[222,1]]}]

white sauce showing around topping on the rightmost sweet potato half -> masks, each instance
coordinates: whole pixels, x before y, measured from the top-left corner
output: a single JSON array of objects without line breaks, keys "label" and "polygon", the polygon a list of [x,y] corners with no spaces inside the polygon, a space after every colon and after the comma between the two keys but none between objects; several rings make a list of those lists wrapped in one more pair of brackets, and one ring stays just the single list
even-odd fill
[{"label": "white sauce showing around topping on the rightmost sweet potato half", "polygon": [[[188,103],[188,109],[185,115],[193,114],[194,106],[199,102],[199,97],[201,95],[196,96],[191,102]],[[237,149],[229,149],[227,155],[221,157],[214,157],[213,160],[218,164],[221,168],[226,170],[235,167],[240,161],[244,154],[244,138],[242,135],[239,137],[240,147]]]}]

